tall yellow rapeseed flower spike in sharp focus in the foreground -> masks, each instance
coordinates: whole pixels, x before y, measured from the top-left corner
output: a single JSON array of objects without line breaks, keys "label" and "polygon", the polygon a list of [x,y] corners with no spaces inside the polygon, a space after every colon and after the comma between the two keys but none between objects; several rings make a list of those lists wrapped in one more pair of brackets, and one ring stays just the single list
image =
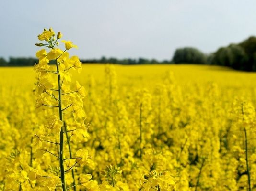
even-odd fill
[{"label": "tall yellow rapeseed flower spike in sharp focus in the foreground", "polygon": [[[88,138],[89,135],[84,124],[85,113],[82,109],[83,98],[85,97],[84,87],[79,82],[76,82],[75,90],[70,89],[70,70],[74,69],[80,72],[82,63],[77,56],[70,57],[67,52],[70,48],[76,47],[72,42],[62,40],[66,49],[63,51],[57,48],[58,40],[61,37],[61,32],[58,32],[56,38],[52,28],[45,29],[42,34],[38,35],[38,39],[45,41],[45,43],[35,44],[50,49],[48,52],[45,49],[41,49],[36,53],[36,57],[39,60],[39,63],[35,65],[35,71],[38,76],[35,91],[38,96],[36,109],[39,110],[38,112],[45,113],[47,111],[47,114],[45,113],[44,128],[39,127],[38,132],[40,134],[36,135],[37,150],[35,154],[42,157],[42,155],[48,153],[59,160],[59,169],[55,169],[56,176],[45,176],[48,179],[47,181],[50,182],[50,186],[48,185],[47,188],[54,190],[59,186],[62,191],[67,191],[69,188],[76,190],[74,168],[76,166],[83,167],[89,159],[88,150],[86,149],[77,150],[74,157],[70,142]],[[55,62],[55,67],[49,65],[52,60]],[[68,145],[69,155],[66,155],[65,149],[67,147],[65,143]],[[48,146],[49,144],[57,146],[57,153],[52,150],[51,146]],[[71,161],[73,161],[73,164]],[[70,172],[72,177],[68,175]],[[80,174],[80,176],[84,175]],[[32,170],[29,173],[31,181],[40,180],[41,177],[38,176],[36,170]],[[56,177],[60,177],[61,183]],[[71,186],[67,187],[71,182]],[[81,184],[85,185],[86,183],[83,181]]]}]

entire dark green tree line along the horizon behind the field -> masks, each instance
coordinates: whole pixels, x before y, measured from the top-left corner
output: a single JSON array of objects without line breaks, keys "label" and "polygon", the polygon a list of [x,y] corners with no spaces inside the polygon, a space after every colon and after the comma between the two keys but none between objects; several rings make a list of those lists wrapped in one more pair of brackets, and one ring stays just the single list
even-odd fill
[{"label": "entire dark green tree line along the horizon behind the field", "polygon": [[[9,61],[0,58],[0,66],[33,66],[36,58],[10,57]],[[230,44],[219,48],[216,52],[206,54],[196,48],[185,47],[175,50],[170,60],[156,59],[117,59],[114,57],[100,59],[81,59],[82,63],[112,63],[112,64],[212,64],[232,67],[236,70],[256,71],[256,37],[252,36],[238,44]]]}]

